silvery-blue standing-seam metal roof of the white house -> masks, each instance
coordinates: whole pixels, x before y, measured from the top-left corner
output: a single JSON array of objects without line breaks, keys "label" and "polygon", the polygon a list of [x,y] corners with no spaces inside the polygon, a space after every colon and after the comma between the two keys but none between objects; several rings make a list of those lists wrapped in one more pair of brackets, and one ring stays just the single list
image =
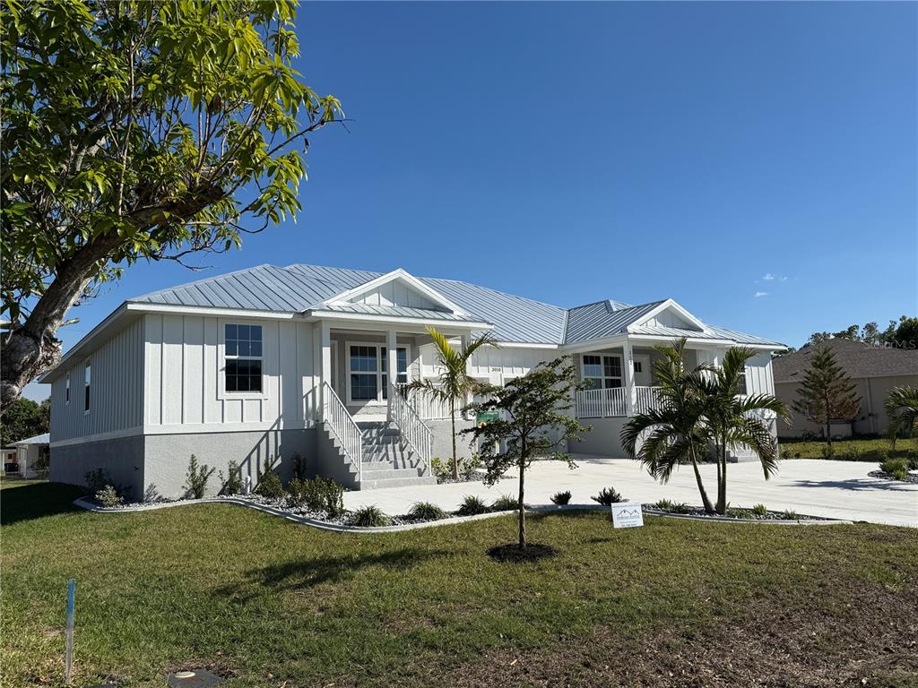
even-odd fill
[{"label": "silvery-blue standing-seam metal roof of the white house", "polygon": [[[145,294],[129,302],[301,313],[317,308],[333,296],[375,280],[382,274],[319,265],[295,264],[283,268],[258,265]],[[565,309],[477,284],[431,277],[418,279],[465,310],[468,315],[454,316],[439,310],[405,306],[359,304],[321,305],[321,310],[455,322],[487,322],[494,325],[493,334],[498,341],[560,345],[624,334],[629,325],[664,303],[661,300],[643,305],[627,305],[620,301],[606,300]],[[741,344],[781,346],[778,342],[742,332],[706,327],[713,338],[732,339]],[[666,337],[704,336],[696,330],[675,327],[640,327],[636,331]]]}]

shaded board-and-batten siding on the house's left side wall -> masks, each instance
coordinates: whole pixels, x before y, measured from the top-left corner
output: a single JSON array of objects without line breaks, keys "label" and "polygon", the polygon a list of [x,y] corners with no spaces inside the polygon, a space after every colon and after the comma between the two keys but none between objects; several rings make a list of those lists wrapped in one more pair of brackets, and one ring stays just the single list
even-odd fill
[{"label": "shaded board-and-batten siding on the house's left side wall", "polygon": [[[85,410],[90,362],[89,411]],[[70,376],[70,403],[67,376]],[[124,327],[91,355],[73,361],[51,383],[51,441],[95,438],[143,425],[143,319]]]}]

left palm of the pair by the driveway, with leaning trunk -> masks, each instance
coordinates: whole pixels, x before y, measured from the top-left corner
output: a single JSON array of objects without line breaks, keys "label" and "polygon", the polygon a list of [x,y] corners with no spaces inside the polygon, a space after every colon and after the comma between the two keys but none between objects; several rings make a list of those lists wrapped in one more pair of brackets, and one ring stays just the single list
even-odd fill
[{"label": "left palm of the pair by the driveway, with leaning trunk", "polygon": [[[705,453],[707,438],[702,424],[703,405],[699,389],[708,364],[686,370],[685,338],[673,346],[655,347],[663,358],[654,363],[658,408],[633,416],[621,430],[621,444],[631,459],[638,459],[661,483],[669,481],[679,463],[690,461],[704,510],[714,513],[711,499],[701,481],[698,464]],[[646,433],[641,449],[638,439]]]}]

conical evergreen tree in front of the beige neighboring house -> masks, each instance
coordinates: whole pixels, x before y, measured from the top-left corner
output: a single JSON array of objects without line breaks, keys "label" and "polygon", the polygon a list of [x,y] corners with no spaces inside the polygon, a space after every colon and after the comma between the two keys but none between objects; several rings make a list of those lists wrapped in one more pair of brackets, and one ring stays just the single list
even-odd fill
[{"label": "conical evergreen tree in front of the beige neighboring house", "polygon": [[816,345],[792,407],[823,428],[826,454],[831,455],[832,421],[854,418],[860,408],[860,397],[855,383],[835,361],[834,351],[829,347]]}]

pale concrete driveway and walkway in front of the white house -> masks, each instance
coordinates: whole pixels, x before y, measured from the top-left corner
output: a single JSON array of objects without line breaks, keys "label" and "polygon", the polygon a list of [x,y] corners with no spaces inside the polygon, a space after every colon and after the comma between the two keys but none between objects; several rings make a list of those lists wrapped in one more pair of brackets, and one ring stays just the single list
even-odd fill
[{"label": "pale concrete driveway and walkway in front of the white house", "polygon": [[[550,504],[549,497],[570,490],[572,504],[591,504],[590,496],[603,487],[614,486],[625,498],[655,502],[667,498],[700,505],[695,476],[689,466],[680,467],[666,485],[656,483],[640,464],[626,459],[605,459],[579,455],[577,469],[570,471],[560,461],[538,461],[526,472],[526,503]],[[733,506],[764,504],[769,509],[793,509],[799,514],[869,521],[893,526],[918,527],[918,484],[894,483],[868,477],[875,463],[861,461],[781,461],[778,474],[766,481],[762,468],[754,463],[732,463],[727,469],[727,499]],[[702,466],[711,499],[716,495],[716,469]],[[409,511],[415,502],[433,502],[453,510],[465,494],[477,494],[490,501],[499,494],[515,495],[516,472],[494,487],[483,483],[457,483],[395,487],[344,494],[344,505],[377,505],[396,516]]]}]

